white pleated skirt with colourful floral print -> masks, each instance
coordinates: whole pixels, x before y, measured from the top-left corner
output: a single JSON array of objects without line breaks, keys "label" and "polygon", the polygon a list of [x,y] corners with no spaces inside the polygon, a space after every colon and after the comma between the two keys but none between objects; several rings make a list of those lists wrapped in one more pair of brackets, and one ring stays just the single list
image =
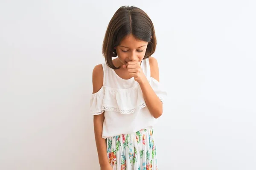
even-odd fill
[{"label": "white pleated skirt with colourful floral print", "polygon": [[109,137],[108,160],[113,170],[157,170],[153,129]]}]

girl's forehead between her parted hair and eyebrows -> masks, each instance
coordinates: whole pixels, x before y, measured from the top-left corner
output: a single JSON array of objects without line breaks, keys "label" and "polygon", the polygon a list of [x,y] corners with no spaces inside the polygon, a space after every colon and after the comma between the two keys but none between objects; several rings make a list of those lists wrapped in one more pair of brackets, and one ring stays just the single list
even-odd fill
[{"label": "girl's forehead between her parted hair and eyebrows", "polygon": [[129,48],[137,48],[137,47],[147,45],[147,44],[148,44],[148,42],[138,40],[132,34],[129,34],[121,40],[119,45],[129,47]]}]

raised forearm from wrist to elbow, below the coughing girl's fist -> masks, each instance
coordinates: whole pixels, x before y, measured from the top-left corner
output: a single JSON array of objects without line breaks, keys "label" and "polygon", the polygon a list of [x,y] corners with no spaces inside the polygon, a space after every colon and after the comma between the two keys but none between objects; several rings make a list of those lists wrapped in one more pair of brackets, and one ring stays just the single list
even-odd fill
[{"label": "raised forearm from wrist to elbow, below the coughing girl's fist", "polygon": [[140,88],[148,110],[150,111],[151,115],[157,119],[163,113],[163,103],[154,92],[148,81],[141,82]]}]

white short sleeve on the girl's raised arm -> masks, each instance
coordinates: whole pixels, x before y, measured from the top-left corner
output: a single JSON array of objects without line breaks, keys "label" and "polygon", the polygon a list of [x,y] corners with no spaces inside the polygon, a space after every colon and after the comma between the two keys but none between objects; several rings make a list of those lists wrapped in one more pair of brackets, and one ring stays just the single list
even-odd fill
[{"label": "white short sleeve on the girl's raised arm", "polygon": [[149,84],[151,85],[152,89],[157,94],[159,99],[162,101],[162,103],[164,103],[165,99],[167,98],[167,92],[163,85],[153,77],[150,77]]}]

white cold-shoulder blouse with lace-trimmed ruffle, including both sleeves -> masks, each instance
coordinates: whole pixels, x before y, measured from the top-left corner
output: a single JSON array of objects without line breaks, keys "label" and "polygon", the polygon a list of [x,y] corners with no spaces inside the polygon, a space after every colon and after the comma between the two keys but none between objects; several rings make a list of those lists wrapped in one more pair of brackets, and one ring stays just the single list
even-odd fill
[{"label": "white cold-shoulder blouse with lace-trimmed ruffle, including both sleeves", "polygon": [[[105,111],[102,138],[120,134],[130,134],[153,127],[156,119],[145,105],[143,93],[138,82],[122,79],[106,63],[103,67],[103,86],[91,95],[90,112],[99,115]],[[163,102],[167,93],[156,79],[151,77],[149,59],[141,62],[141,68],[151,87]]]}]

